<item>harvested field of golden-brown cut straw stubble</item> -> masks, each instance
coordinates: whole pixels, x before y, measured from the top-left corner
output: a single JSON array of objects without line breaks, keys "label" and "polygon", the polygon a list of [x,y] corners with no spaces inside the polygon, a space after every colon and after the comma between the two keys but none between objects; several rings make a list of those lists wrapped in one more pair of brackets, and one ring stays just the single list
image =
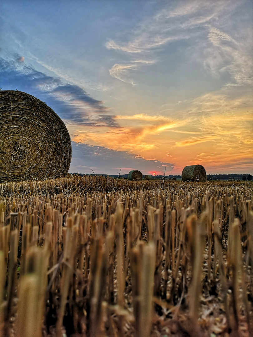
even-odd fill
[{"label": "harvested field of golden-brown cut straw stubble", "polygon": [[252,186],[0,184],[1,337],[252,336]]}]

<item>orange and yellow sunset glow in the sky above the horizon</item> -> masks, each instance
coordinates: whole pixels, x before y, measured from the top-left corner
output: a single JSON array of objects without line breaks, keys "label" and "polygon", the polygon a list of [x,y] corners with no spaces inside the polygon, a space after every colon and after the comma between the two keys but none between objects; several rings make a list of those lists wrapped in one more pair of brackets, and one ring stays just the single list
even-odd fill
[{"label": "orange and yellow sunset glow in the sky above the horizon", "polygon": [[[252,174],[252,104],[249,96],[233,98],[211,92],[189,102],[187,113],[175,110],[168,111],[168,117],[115,116],[119,128],[72,125],[69,129],[73,129],[75,142],[174,165],[166,174],[180,175],[185,166],[195,164],[204,166],[207,174]],[[159,169],[150,174],[162,174],[162,167]]]}]

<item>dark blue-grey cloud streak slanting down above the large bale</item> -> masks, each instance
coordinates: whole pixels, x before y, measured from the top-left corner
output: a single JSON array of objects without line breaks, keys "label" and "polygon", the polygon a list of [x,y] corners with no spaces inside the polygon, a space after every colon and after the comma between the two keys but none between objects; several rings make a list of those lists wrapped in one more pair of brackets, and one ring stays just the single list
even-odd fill
[{"label": "dark blue-grey cloud streak slanting down above the large bale", "polygon": [[77,85],[65,84],[16,60],[0,58],[0,87],[29,93],[49,105],[65,122],[85,126],[118,127],[102,101],[92,98]]}]

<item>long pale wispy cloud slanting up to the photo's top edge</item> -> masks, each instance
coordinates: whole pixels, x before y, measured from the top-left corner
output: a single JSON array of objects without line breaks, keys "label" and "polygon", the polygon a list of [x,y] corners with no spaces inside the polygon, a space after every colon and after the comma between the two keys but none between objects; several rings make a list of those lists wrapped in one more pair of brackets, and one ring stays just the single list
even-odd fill
[{"label": "long pale wispy cloud slanting up to the photo's top edge", "polygon": [[228,1],[214,3],[213,1],[198,0],[176,6],[174,9],[168,6],[138,25],[133,33],[133,39],[130,39],[129,42],[120,43],[109,40],[106,47],[135,54],[158,48],[168,42],[186,39],[190,35],[185,28],[208,22],[227,4]]}]

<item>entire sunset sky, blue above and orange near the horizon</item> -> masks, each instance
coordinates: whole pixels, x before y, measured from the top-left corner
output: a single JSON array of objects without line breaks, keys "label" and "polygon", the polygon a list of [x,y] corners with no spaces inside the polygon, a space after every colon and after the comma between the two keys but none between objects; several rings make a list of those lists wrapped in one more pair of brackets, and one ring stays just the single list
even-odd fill
[{"label": "entire sunset sky, blue above and orange near the horizon", "polygon": [[253,1],[2,0],[0,88],[60,116],[69,172],[253,174]]}]

